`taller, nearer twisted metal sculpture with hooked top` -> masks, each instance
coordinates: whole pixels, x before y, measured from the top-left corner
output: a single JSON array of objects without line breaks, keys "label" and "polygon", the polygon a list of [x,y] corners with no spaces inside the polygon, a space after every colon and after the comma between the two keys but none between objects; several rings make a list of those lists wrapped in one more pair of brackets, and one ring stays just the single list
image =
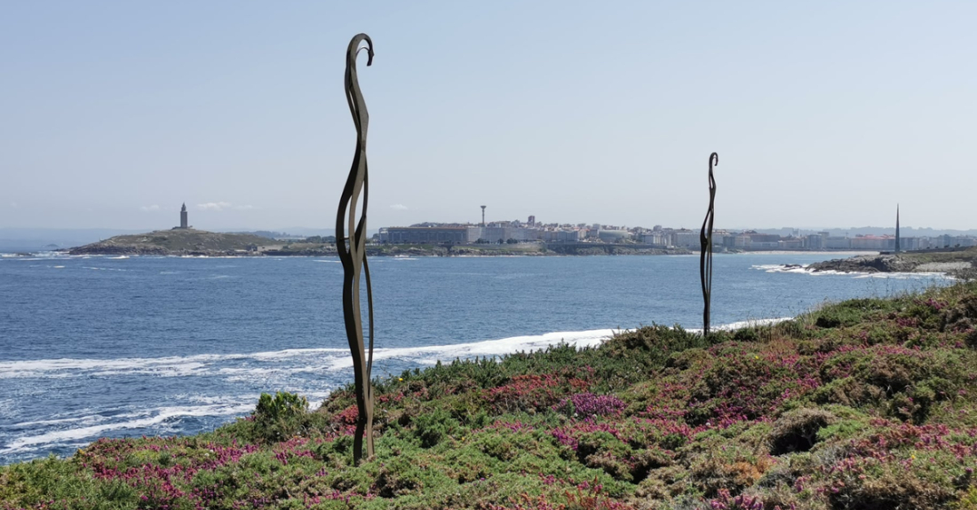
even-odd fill
[{"label": "taller, nearer twisted metal sculpture with hooked top", "polygon": [[[357,431],[353,441],[353,461],[360,463],[364,456],[373,454],[373,388],[370,386],[370,372],[373,368],[373,294],[370,290],[369,266],[366,263],[366,199],[368,179],[366,177],[366,128],[369,114],[360,91],[357,78],[357,55],[360,44],[365,41],[368,59],[366,65],[373,63],[373,41],[366,34],[357,34],[350,41],[346,51],[346,99],[350,103],[350,113],[357,128],[357,148],[353,155],[350,176],[346,178],[343,195],[339,199],[336,213],[336,251],[343,263],[343,319],[346,323],[346,336],[350,341],[353,355],[354,384],[357,393]],[[362,194],[363,205],[360,220],[357,221],[357,201]],[[367,320],[369,321],[368,356],[363,344],[362,313],[360,308],[360,280],[366,282]],[[363,450],[365,443],[365,451]]]}]

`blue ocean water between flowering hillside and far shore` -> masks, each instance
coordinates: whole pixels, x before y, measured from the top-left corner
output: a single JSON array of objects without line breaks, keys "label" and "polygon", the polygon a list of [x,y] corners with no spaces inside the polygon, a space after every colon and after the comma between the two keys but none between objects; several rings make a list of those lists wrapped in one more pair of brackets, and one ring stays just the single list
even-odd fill
[{"label": "blue ocean water between flowering hillside and far shore", "polygon": [[[811,274],[837,255],[715,255],[712,324],[793,317],[940,275]],[[653,322],[701,327],[699,257],[370,259],[374,375]],[[262,392],[352,380],[335,258],[0,256],[0,464],[99,437],[193,434]]]}]

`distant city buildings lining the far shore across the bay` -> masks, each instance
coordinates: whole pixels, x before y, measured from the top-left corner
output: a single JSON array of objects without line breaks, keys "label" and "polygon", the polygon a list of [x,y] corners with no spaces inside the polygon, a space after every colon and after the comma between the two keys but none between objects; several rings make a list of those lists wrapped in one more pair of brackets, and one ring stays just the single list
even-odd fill
[{"label": "distant city buildings lining the far shore across the bay", "polygon": [[[648,248],[686,248],[698,250],[701,247],[700,231],[686,228],[653,228],[598,223],[569,224],[541,223],[535,216],[527,221],[486,222],[483,208],[483,222],[472,223],[420,223],[406,227],[381,228],[379,241],[393,244],[504,244],[504,243],[610,243],[644,245]],[[900,237],[899,219],[896,218],[895,235],[857,235],[832,236],[828,232],[791,235],[761,233],[755,230],[726,231],[714,230],[713,248],[716,251],[749,250],[853,250],[900,252],[908,250],[930,250],[948,247],[977,246],[977,238],[970,236]]]}]

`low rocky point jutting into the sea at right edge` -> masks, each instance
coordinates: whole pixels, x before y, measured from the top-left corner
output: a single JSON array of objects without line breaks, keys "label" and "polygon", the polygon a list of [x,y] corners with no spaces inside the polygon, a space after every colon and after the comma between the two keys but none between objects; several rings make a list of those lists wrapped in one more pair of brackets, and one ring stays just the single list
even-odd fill
[{"label": "low rocky point jutting into the sea at right edge", "polygon": [[809,270],[844,273],[947,273],[956,276],[977,267],[977,248],[948,248],[901,254],[857,255],[815,262]]}]

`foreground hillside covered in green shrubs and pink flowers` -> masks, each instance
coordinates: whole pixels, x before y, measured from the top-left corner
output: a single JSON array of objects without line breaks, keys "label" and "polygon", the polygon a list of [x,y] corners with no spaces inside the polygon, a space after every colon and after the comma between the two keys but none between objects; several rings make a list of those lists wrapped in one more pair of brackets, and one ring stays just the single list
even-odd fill
[{"label": "foreground hillside covered in green shrubs and pink flowers", "polygon": [[263,395],[191,437],[0,468],[0,508],[977,509],[977,283],[776,325],[650,326],[376,379],[357,408]]}]

